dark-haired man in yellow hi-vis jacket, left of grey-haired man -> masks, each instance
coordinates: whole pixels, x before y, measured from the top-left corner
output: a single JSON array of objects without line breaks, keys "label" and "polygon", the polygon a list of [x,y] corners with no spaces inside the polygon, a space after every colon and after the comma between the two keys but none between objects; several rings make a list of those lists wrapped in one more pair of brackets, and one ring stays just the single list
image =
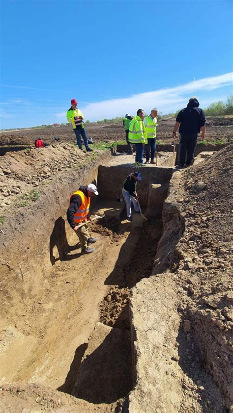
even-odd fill
[{"label": "dark-haired man in yellow hi-vis jacket, left of grey-haired man", "polygon": [[137,116],[129,124],[129,142],[136,147],[135,162],[143,165],[143,147],[147,143],[146,129],[143,123],[145,113],[143,109],[138,109]]}]

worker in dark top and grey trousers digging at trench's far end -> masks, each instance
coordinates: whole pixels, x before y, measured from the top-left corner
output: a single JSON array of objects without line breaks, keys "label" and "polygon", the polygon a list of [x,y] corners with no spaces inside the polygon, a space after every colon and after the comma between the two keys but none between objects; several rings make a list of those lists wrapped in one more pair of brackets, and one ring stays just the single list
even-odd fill
[{"label": "worker in dark top and grey trousers digging at trench's far end", "polygon": [[130,174],[124,181],[122,188],[122,195],[126,202],[127,219],[129,221],[132,221],[131,202],[133,203],[135,212],[140,212],[138,206],[138,195],[136,192],[137,181],[142,181],[142,174],[140,172]]}]

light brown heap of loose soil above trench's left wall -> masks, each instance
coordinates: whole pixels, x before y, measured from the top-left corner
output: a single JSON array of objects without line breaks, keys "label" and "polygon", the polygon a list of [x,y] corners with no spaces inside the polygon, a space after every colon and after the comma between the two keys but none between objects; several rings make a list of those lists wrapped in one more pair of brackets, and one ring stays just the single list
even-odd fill
[{"label": "light brown heap of loose soil above trench's left wall", "polygon": [[[15,202],[25,204],[33,200],[33,188],[52,180],[62,171],[82,167],[91,155],[67,144],[58,143],[46,148],[31,148],[8,152],[1,157],[0,205],[4,210]],[[24,205],[22,205],[24,206]]]}]

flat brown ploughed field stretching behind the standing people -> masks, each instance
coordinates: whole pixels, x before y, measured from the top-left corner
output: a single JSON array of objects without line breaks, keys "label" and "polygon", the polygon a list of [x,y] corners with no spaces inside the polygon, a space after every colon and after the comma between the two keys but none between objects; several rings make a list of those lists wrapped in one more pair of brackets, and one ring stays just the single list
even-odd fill
[{"label": "flat brown ploughed field stretching behind the standing people", "polygon": [[[160,120],[157,127],[157,140],[170,142],[175,119]],[[125,132],[121,124],[92,124],[85,125],[87,136],[96,141],[124,141]],[[71,126],[57,128],[45,127],[40,129],[22,129],[0,132],[0,146],[5,145],[34,145],[35,139],[41,137],[45,142],[54,142],[55,136],[59,136],[62,142],[75,142],[75,134]],[[233,118],[213,118],[206,120],[207,141],[229,141],[233,137]]]}]

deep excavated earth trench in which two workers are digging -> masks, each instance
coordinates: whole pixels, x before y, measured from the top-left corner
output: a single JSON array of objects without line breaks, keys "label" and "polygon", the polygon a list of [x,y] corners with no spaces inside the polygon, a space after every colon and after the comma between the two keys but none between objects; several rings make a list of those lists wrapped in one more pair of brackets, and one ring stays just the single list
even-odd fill
[{"label": "deep excavated earth trench in which two workers are digging", "polygon": [[[39,383],[94,404],[116,404],[132,389],[129,293],[151,274],[172,168],[156,168],[156,173],[144,168],[138,194],[148,222],[135,212],[128,222],[124,205],[116,201],[131,171],[130,166],[102,165],[83,177],[92,177],[101,194],[91,211],[103,216],[90,224],[98,236],[94,254],[81,255],[76,235],[60,215],[49,245],[39,233],[30,258],[21,253],[15,268],[9,261],[3,264],[9,282],[4,287],[8,314],[2,322],[2,382]],[[65,211],[66,179],[58,189]],[[21,248],[23,242],[25,237]],[[38,252],[39,247],[36,256],[33,248]],[[17,267],[17,277],[12,276]],[[13,289],[16,278],[21,287]]]}]

